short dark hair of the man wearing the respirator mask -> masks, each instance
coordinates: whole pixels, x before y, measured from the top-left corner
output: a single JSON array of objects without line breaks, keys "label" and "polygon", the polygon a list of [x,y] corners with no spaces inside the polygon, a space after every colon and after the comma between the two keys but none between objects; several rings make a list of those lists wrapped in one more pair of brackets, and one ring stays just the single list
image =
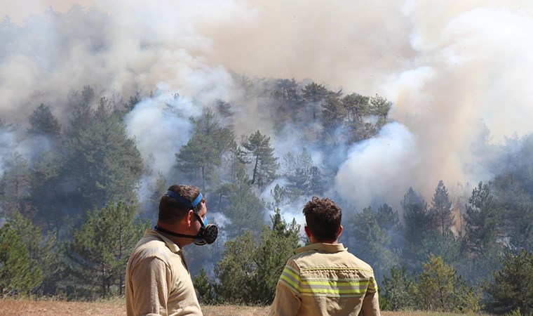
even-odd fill
[{"label": "short dark hair of the man wearing the respirator mask", "polygon": [[[173,191],[190,202],[194,201],[200,194],[200,189],[192,185],[170,185],[168,191]],[[200,211],[203,204],[205,204],[205,197],[202,197],[201,202],[196,205],[193,211]],[[159,201],[158,220],[164,223],[176,223],[187,215],[190,209],[190,206],[184,205],[182,202],[165,194]]]}]

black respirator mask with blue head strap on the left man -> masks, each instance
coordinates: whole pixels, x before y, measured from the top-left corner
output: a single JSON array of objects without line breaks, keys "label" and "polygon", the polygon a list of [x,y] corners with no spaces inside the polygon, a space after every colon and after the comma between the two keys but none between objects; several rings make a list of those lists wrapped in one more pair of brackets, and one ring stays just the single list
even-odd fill
[{"label": "black respirator mask with blue head strap on the left man", "polygon": [[198,218],[198,221],[200,222],[200,225],[201,225],[200,231],[198,232],[196,236],[194,236],[194,235],[179,234],[177,232],[170,232],[169,230],[160,228],[157,225],[156,227],[154,227],[154,230],[157,230],[159,232],[164,232],[165,234],[172,235],[175,237],[194,238],[194,244],[197,244],[198,246],[202,246],[204,244],[212,244],[213,242],[215,242],[218,236],[217,225],[208,224],[207,218],[204,218],[202,220],[200,215],[198,215],[198,213],[194,211],[194,208],[196,207],[196,205],[198,205],[198,203],[200,203],[200,201],[202,200],[201,193],[198,194],[198,197],[196,197],[196,199],[194,199],[193,202],[189,202],[188,199],[185,199],[184,197],[182,197],[181,195],[178,195],[176,192],[173,192],[173,191],[167,191],[166,195],[168,195],[169,197],[172,197],[173,199],[175,199],[177,202],[180,202],[181,204],[190,206],[194,215],[196,216],[196,218]]}]

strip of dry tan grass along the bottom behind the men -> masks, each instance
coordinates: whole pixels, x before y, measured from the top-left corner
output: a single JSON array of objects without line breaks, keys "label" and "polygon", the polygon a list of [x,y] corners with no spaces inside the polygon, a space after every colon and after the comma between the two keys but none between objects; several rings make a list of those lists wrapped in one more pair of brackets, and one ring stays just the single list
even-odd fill
[{"label": "strip of dry tan grass along the bottom behind the men", "polygon": [[[269,307],[246,305],[204,305],[205,316],[265,316]],[[126,315],[123,300],[102,302],[31,301],[0,299],[0,316]],[[384,316],[459,316],[442,312],[382,312]],[[480,315],[477,315],[480,316]]]}]

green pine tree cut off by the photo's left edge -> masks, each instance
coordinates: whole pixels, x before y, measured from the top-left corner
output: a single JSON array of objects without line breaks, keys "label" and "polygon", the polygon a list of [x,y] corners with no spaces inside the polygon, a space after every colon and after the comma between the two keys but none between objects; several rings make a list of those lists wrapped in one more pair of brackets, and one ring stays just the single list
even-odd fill
[{"label": "green pine tree cut off by the photo's left edge", "polygon": [[0,294],[25,295],[41,283],[38,261],[30,258],[20,233],[6,223],[0,228]]}]

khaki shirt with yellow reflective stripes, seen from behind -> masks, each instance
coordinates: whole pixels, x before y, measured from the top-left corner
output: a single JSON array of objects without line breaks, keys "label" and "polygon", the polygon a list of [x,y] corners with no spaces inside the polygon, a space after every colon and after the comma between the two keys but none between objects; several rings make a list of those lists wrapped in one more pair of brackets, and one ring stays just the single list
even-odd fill
[{"label": "khaki shirt with yellow reflective stripes, seen from behind", "polygon": [[289,259],[270,315],[379,316],[374,271],[342,244],[310,244]]}]

